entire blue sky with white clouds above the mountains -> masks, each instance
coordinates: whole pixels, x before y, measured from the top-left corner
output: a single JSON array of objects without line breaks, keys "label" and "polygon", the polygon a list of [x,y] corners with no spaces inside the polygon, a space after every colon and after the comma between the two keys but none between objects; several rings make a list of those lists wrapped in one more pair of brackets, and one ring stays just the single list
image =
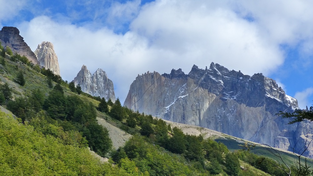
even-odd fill
[{"label": "entire blue sky with white clouds above the mountains", "polygon": [[138,74],[211,62],[263,73],[313,104],[313,3],[309,0],[0,0],[0,27],[15,26],[32,50],[50,41],[61,76],[106,71],[123,102]]}]

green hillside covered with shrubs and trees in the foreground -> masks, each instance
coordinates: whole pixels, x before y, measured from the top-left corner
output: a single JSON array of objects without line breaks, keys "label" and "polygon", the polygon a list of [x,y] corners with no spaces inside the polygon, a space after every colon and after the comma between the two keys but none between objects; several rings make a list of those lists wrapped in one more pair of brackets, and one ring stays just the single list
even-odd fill
[{"label": "green hillside covered with shrubs and trees in the foreground", "polygon": [[[0,103],[15,117],[0,113],[1,175],[285,175],[269,158],[229,152],[223,143],[122,107],[118,98],[82,93],[18,54],[4,56]],[[97,117],[132,137],[115,150]]]}]

